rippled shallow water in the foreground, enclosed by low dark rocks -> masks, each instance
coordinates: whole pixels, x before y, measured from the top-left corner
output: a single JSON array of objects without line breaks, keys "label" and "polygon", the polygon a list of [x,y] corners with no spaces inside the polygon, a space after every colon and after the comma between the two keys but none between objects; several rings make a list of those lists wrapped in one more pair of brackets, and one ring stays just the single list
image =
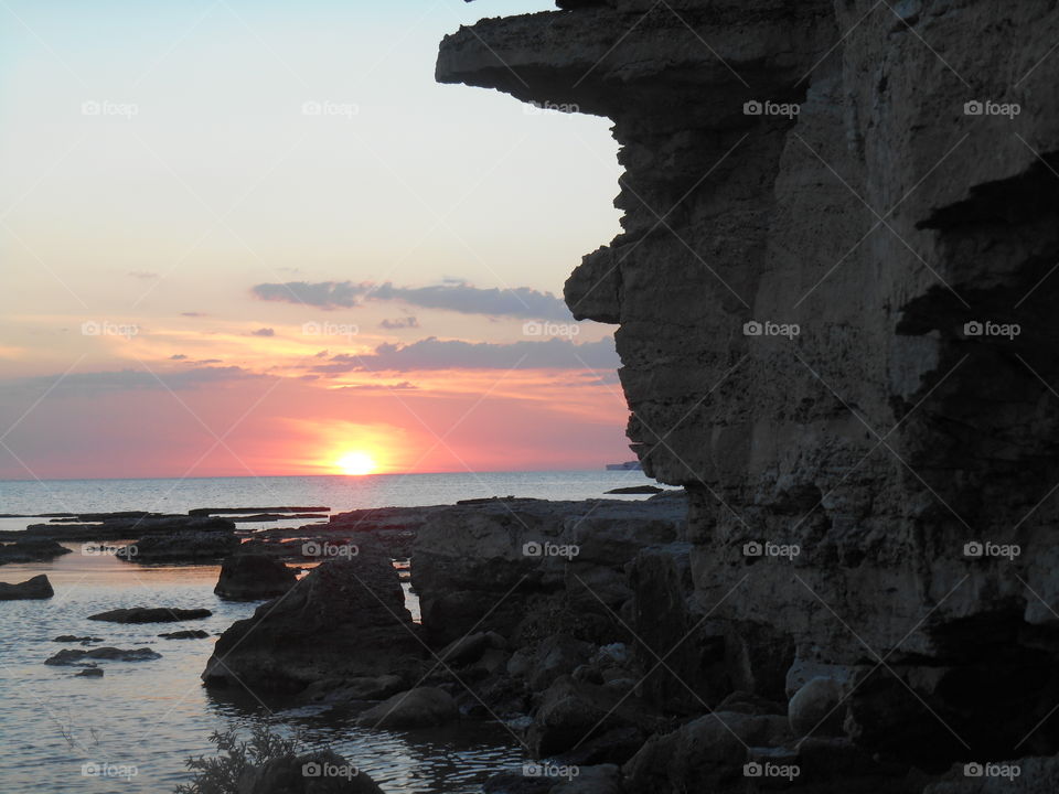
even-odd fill
[{"label": "rippled shallow water in the foreground, enclosed by low dark rocks", "polygon": [[[79,545],[69,544],[79,549]],[[212,754],[208,736],[229,726],[248,728],[271,715],[264,705],[217,699],[201,685],[216,637],[164,640],[160,632],[203,629],[211,635],[249,615],[255,603],[217,599],[217,567],[139,567],[77,551],[47,564],[8,565],[0,578],[22,581],[46,573],[55,589],[47,601],[0,602],[0,791],[171,792],[186,781],[184,761]],[[86,620],[136,605],[205,607],[213,615],[181,623],[122,625]],[[92,635],[128,648],[145,643],[161,653],[148,662],[100,662],[103,678],[78,678],[77,667],[44,659],[78,644],[52,642],[60,634]],[[481,781],[522,762],[520,748],[501,727],[399,733],[368,731],[345,720],[321,721],[279,712],[312,745],[330,744],[389,794],[470,794]],[[124,777],[83,774],[84,764],[110,764]]]}]

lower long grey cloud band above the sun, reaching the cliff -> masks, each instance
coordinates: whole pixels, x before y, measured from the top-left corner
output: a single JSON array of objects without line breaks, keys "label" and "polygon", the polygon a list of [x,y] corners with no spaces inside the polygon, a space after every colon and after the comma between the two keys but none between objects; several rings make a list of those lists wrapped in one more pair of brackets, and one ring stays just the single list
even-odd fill
[{"label": "lower long grey cloud band above the sun, reaching the cliff", "polygon": [[340,354],[313,372],[413,372],[421,369],[616,369],[621,362],[614,340],[574,344],[568,340],[541,342],[442,341],[435,336],[408,345],[382,344],[363,356]]}]

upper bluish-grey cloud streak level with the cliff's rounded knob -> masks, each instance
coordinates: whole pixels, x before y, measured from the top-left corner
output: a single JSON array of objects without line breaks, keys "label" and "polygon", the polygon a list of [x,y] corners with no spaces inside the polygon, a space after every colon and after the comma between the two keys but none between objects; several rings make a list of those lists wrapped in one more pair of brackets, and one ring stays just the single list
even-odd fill
[{"label": "upper bluish-grey cloud streak level with the cliff's rounded knob", "polygon": [[352,281],[288,281],[263,283],[253,288],[260,300],[349,309],[364,301],[402,301],[424,309],[443,309],[462,314],[570,320],[566,304],[550,292],[528,287],[479,289],[463,281],[446,280],[431,287],[395,287],[391,282],[373,285]]}]

